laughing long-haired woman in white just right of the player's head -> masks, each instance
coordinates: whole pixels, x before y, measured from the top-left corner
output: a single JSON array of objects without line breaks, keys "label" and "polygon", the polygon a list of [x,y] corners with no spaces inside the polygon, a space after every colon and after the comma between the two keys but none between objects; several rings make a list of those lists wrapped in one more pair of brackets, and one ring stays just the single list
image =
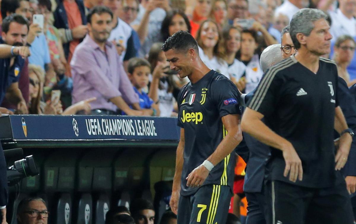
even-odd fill
[{"label": "laughing long-haired woman in white just right of the player's head", "polygon": [[224,60],[226,55],[224,39],[221,37],[218,24],[213,20],[203,21],[195,39],[198,42],[199,56],[204,64],[230,78],[227,63]]}]

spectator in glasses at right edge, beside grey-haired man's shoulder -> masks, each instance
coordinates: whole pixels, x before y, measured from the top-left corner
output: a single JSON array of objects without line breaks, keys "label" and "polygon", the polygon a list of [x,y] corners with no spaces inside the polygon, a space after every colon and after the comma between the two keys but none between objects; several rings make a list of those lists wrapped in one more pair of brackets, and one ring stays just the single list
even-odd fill
[{"label": "spectator in glasses at right edge, beside grey-haired man's shoulder", "polygon": [[335,42],[334,52],[333,60],[336,62],[337,72],[346,81],[347,86],[350,87],[356,83],[356,80],[350,80],[350,74],[346,69],[355,55],[354,38],[349,35],[341,35]]}]

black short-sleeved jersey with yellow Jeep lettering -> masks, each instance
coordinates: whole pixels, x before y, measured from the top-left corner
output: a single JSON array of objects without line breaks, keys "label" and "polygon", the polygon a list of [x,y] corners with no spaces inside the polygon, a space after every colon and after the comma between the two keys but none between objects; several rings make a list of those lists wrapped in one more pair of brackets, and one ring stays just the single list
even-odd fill
[{"label": "black short-sleeved jersey with yellow Jeep lettering", "polygon": [[[185,85],[178,94],[178,126],[184,128],[183,196],[198,188],[187,187],[185,178],[204,162],[226,135],[221,118],[240,114],[240,93],[224,75],[211,70],[198,82]],[[203,185],[229,185],[234,181],[235,152],[229,154],[209,173]]]}]

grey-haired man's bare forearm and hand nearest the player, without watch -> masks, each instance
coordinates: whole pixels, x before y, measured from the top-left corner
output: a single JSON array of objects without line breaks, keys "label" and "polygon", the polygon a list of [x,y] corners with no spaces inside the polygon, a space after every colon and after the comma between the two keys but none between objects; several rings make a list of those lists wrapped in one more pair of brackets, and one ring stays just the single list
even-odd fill
[{"label": "grey-haired man's bare forearm and hand nearest the player, without watch", "polygon": [[286,168],[284,169],[283,175],[287,177],[289,173],[290,181],[295,182],[298,177],[301,181],[303,179],[302,161],[292,143],[269,129],[269,127],[261,121],[262,118],[263,114],[250,108],[246,108],[241,122],[242,131],[249,133],[262,143],[281,150],[286,162]]}]

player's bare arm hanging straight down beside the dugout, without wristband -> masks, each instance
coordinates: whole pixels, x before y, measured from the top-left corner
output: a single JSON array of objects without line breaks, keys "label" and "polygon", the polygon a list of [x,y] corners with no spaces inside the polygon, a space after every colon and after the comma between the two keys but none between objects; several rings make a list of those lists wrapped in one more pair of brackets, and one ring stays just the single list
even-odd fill
[{"label": "player's bare arm hanging straight down beside the dugout, without wristband", "polygon": [[173,178],[173,187],[172,187],[172,196],[169,205],[172,208],[174,214],[178,213],[178,202],[179,202],[179,192],[180,192],[180,178],[182,177],[183,169],[183,152],[184,152],[184,129],[180,129],[180,139],[177,147],[177,156],[176,156],[176,172],[174,173]]}]

